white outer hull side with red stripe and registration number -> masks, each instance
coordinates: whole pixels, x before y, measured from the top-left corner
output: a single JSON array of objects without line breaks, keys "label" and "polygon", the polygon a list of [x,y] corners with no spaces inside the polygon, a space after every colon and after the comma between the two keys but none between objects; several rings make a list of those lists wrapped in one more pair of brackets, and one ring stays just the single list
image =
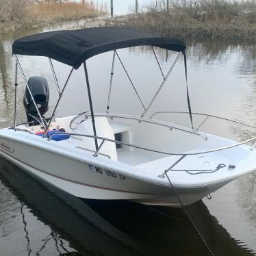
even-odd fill
[{"label": "white outer hull side with red stripe and registration number", "polygon": [[[129,173],[125,171],[124,164],[114,168],[110,166],[109,159],[99,162],[91,155],[74,155],[60,144],[55,147],[56,142],[38,139],[38,136],[27,142],[26,137],[29,136],[21,131],[3,129],[0,133],[0,154],[61,190],[86,199],[180,206],[166,179],[149,179],[132,171]],[[190,205],[235,178],[231,176],[208,185],[175,185],[175,189],[183,204]]]}]

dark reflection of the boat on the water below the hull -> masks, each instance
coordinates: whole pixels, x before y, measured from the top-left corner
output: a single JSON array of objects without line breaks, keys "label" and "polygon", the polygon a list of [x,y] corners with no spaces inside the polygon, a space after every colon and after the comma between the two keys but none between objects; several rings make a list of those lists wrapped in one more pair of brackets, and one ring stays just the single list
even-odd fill
[{"label": "dark reflection of the boat on the water below the hull", "polygon": [[[180,209],[125,201],[82,202],[4,159],[0,179],[51,227],[53,235],[58,233],[58,238],[68,240],[82,255],[207,255]],[[218,225],[201,201],[188,210],[215,255],[250,255]]]}]

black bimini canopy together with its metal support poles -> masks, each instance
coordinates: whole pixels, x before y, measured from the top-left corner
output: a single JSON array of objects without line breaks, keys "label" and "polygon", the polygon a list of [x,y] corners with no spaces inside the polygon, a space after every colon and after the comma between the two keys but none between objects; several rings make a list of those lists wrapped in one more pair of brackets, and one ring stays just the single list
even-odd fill
[{"label": "black bimini canopy together with its metal support poles", "polygon": [[[123,64],[117,52],[117,49],[122,49],[127,47],[136,47],[140,45],[149,45],[152,47],[153,53],[157,60],[157,64],[159,66],[159,69],[163,77],[162,83],[157,89],[157,92],[155,92],[153,99],[147,106],[142,101],[142,98],[140,97],[140,94],[138,93],[136,86],[133,84],[133,81],[131,80],[129,73],[127,72],[127,69],[125,68],[125,65]],[[155,53],[155,49],[154,49],[155,46],[163,49],[171,50],[171,51],[177,51],[178,53],[175,61],[170,66],[170,70],[168,71],[168,73],[166,73],[166,75],[164,75],[162,66],[159,63],[157,54]],[[40,120],[38,119],[38,121],[42,123],[45,133],[48,131],[51,125],[51,121],[53,120],[53,116],[55,115],[57,106],[60,103],[62,94],[68,84],[68,81],[71,78],[71,75],[74,69],[77,69],[79,68],[79,66],[81,66],[81,64],[84,64],[84,72],[86,76],[86,85],[88,90],[88,99],[90,103],[90,113],[92,116],[92,126],[94,131],[94,137],[97,137],[96,127],[94,123],[94,111],[92,107],[92,97],[90,93],[90,84],[89,84],[86,60],[88,60],[90,57],[94,55],[98,55],[100,53],[104,53],[107,51],[114,51],[113,61],[112,61],[112,72],[111,72],[111,79],[110,79],[110,89],[109,89],[109,95],[107,99],[107,112],[110,109],[112,77],[114,75],[114,60],[116,56],[118,57],[120,64],[123,66],[125,73],[127,74],[129,81],[131,82],[131,86],[133,90],[136,92],[136,95],[140,103],[142,104],[142,107],[144,109],[141,115],[142,118],[144,117],[146,112],[148,112],[151,105],[153,105],[153,102],[155,101],[159,92],[162,90],[162,87],[164,86],[164,84],[166,84],[166,81],[172,71],[172,68],[174,68],[175,64],[177,63],[177,60],[179,59],[181,53],[183,53],[183,56],[184,56],[185,77],[187,78],[185,43],[182,40],[179,40],[176,38],[156,36],[153,34],[144,33],[134,29],[120,28],[120,27],[94,27],[90,29],[78,29],[73,31],[51,31],[51,32],[46,32],[41,34],[35,34],[32,36],[27,36],[25,38],[20,38],[18,40],[15,40],[14,43],[12,44],[12,53],[16,57],[16,73],[17,73],[17,68],[19,68],[19,70],[21,71],[21,75],[23,76],[23,79],[27,86],[27,89],[29,90],[29,86],[27,84],[27,79],[25,77],[23,69],[21,68],[21,64],[18,60],[17,54],[49,57],[51,71],[53,72],[54,81],[57,87],[57,92],[59,94],[59,99],[57,100],[57,103],[55,105],[51,118],[49,118],[49,122],[47,122],[46,120],[44,120],[44,118],[40,114],[40,110],[36,105],[36,101],[34,100],[34,97],[29,90],[29,94],[38,112],[38,116],[40,119]],[[53,63],[51,62],[51,59],[57,60],[58,62],[62,62],[64,64],[68,64],[72,66],[71,72],[69,73],[68,78],[66,79],[66,82],[62,89],[60,88],[60,85],[57,81],[57,77],[55,75],[55,71],[54,71]],[[14,128],[16,127],[16,86],[18,86],[17,76],[15,79]],[[191,107],[190,107],[190,98],[188,93],[188,83],[187,83],[187,100],[188,100],[188,110],[190,114],[191,125],[194,131],[193,122],[192,122],[192,113],[191,113]],[[97,138],[95,138],[95,147],[98,150],[99,146],[97,143]]]}]

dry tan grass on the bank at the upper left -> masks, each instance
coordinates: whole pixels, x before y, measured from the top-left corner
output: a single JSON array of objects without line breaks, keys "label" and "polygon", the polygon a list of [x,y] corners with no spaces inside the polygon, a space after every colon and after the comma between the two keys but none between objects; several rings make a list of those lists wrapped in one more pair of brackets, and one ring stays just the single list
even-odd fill
[{"label": "dry tan grass on the bank at the upper left", "polygon": [[0,0],[0,31],[92,18],[104,13],[106,8],[92,1],[29,3],[28,0]]}]

